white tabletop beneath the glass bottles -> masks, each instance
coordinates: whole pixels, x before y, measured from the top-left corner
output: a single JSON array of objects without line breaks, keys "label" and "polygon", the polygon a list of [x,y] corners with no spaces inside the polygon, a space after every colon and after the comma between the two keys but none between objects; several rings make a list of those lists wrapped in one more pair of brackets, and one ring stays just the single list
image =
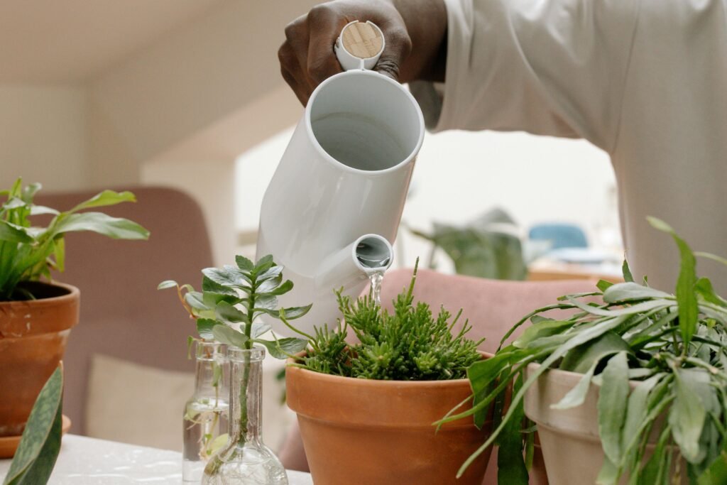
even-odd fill
[{"label": "white tabletop beneath the glass bottles", "polygon": [[[0,460],[0,481],[11,460]],[[289,485],[313,485],[310,474],[288,471]],[[182,454],[86,436],[63,436],[51,485],[181,484]]]}]

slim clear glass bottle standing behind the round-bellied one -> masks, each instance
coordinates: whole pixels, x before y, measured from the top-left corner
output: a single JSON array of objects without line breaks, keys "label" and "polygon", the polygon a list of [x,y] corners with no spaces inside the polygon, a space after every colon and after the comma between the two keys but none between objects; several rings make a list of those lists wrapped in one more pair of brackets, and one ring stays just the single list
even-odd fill
[{"label": "slim clear glass bottle standing behind the round-bellied one", "polygon": [[226,345],[196,341],[194,394],[182,417],[185,484],[199,484],[209,458],[227,443],[230,372],[226,354]]}]

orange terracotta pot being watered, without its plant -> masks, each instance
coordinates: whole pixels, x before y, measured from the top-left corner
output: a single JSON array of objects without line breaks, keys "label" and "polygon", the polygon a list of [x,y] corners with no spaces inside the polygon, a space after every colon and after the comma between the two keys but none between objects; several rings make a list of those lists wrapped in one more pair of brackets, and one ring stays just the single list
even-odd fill
[{"label": "orange terracotta pot being watered, without its plant", "polygon": [[438,433],[432,426],[471,395],[466,379],[364,380],[289,366],[286,392],[316,485],[482,483],[491,449],[455,476],[491,422],[478,430],[465,418]]}]

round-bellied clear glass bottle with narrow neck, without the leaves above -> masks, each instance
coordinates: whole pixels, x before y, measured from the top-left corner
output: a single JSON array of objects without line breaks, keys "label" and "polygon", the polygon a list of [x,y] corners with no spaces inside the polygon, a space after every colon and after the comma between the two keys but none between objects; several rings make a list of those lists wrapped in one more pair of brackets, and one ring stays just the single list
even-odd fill
[{"label": "round-bellied clear glass bottle with narrow neck, without the leaves above", "polygon": [[228,348],[230,428],[227,444],[207,462],[205,485],[288,485],[273,451],[262,443],[264,348]]}]

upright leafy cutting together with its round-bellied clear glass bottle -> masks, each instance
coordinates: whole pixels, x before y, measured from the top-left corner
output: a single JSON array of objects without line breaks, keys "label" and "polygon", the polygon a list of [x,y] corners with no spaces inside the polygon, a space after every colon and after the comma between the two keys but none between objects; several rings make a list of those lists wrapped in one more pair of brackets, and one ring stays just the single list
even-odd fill
[{"label": "upright leafy cutting together with its round-bellied clear glass bottle", "polygon": [[[182,304],[196,320],[197,332],[206,342],[227,345],[230,365],[228,435],[225,444],[209,458],[202,483],[287,484],[280,460],[262,442],[262,360],[265,350],[276,358],[286,358],[305,348],[297,338],[262,338],[270,325],[260,316],[292,320],[304,316],[310,305],[278,308],[278,296],[293,288],[283,279],[283,267],[268,255],[252,262],[237,256],[236,265],[202,270],[202,291],[189,285],[164,281],[159,287],[176,286]],[[182,289],[185,291],[182,294]],[[258,344],[258,345],[255,345]]]}]

